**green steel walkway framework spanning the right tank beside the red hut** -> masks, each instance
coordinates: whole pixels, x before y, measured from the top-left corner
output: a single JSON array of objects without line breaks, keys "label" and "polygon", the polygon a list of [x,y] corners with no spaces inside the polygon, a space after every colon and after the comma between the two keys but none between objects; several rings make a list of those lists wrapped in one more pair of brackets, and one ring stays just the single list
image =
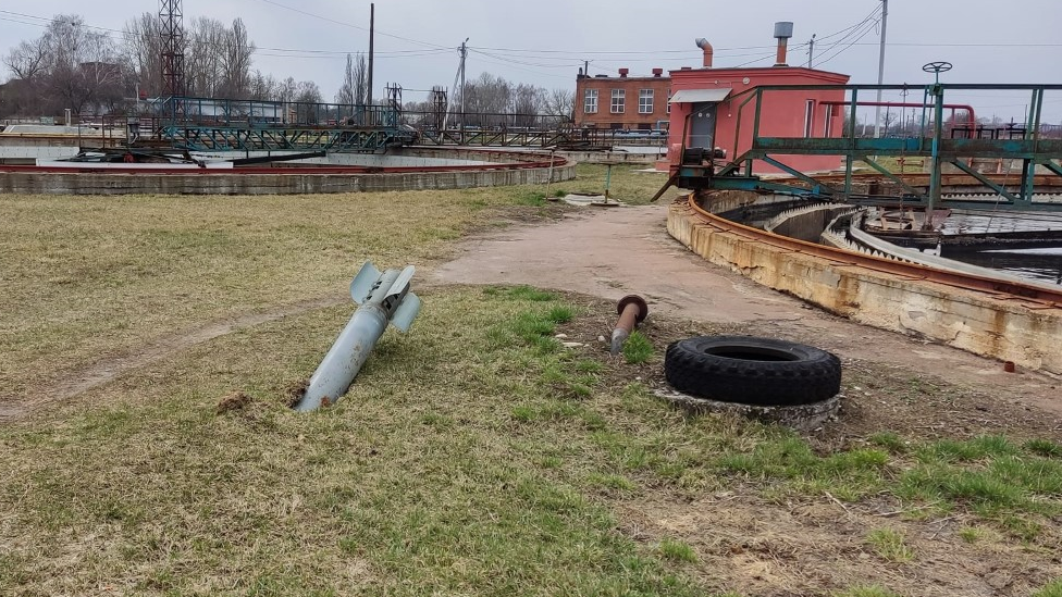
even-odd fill
[{"label": "green steel walkway framework spanning the right tank beside the red hut", "polygon": [[[1034,174],[1036,166],[1044,166],[1054,175],[1062,176],[1062,166],[1057,163],[1062,160],[1062,139],[1041,138],[1041,117],[1044,96],[1046,91],[1062,91],[1062,85],[953,85],[930,84],[924,88],[923,114],[921,135],[901,138],[861,138],[855,135],[854,126],[860,94],[863,91],[880,90],[911,90],[907,85],[806,85],[781,86],[768,85],[755,87],[733,96],[731,100],[744,99],[738,104],[738,129],[734,133],[734,146],[740,139],[740,123],[743,111],[754,102],[755,116],[753,119],[753,134],[751,148],[738,156],[715,173],[706,172],[696,166],[681,166],[678,177],[691,186],[713,189],[743,189],[769,190],[775,192],[791,192],[798,196],[828,198],[855,203],[886,203],[880,198],[857,197],[852,192],[852,170],[856,161],[865,162],[882,176],[900,185],[909,194],[904,202],[911,207],[924,207],[931,210],[935,207],[979,207],[984,201],[956,201],[941,197],[941,170],[943,164],[952,164],[960,171],[977,179],[987,189],[998,194],[1001,200],[990,203],[998,209],[1012,210],[1050,210],[1062,209],[1060,203],[1033,202],[1036,192]],[[850,125],[843,127],[843,136],[829,138],[795,138],[768,137],[761,135],[761,109],[763,97],[773,91],[838,91],[849,94],[845,104],[849,109]],[[989,91],[1028,91],[1029,110],[1025,123],[1023,138],[946,138],[943,126],[944,94],[948,90],[989,90]],[[929,117],[929,114],[933,114]],[[833,188],[814,174],[800,172],[778,157],[794,154],[840,156],[844,158],[844,187]],[[875,160],[875,157],[923,157],[930,159],[929,189],[923,192],[913,188],[899,176],[887,170]],[[964,160],[972,158],[1010,159],[1022,161],[1022,183],[1020,188],[1009,189],[991,181],[984,174],[976,172]],[[765,181],[752,174],[752,165],[756,160],[771,164],[791,175],[805,186],[787,184],[777,181]],[[743,170],[743,172],[742,172]]]}]

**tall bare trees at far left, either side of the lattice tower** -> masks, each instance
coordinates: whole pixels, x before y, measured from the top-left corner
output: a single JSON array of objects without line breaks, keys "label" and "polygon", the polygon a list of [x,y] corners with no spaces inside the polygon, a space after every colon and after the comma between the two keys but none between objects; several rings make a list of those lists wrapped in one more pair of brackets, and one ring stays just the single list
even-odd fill
[{"label": "tall bare trees at far left, either side of the lattice tower", "polygon": [[[0,87],[0,116],[121,114],[137,94],[162,94],[162,36],[157,14],[128,21],[120,39],[59,15],[45,33],[2,59],[11,78]],[[276,79],[252,69],[255,42],[243,20],[207,17],[185,27],[185,95],[275,101],[323,101],[312,80]]]}]

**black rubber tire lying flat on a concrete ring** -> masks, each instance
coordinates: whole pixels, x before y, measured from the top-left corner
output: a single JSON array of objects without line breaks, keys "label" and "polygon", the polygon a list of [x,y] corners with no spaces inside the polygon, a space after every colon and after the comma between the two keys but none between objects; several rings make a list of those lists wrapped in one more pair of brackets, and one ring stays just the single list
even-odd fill
[{"label": "black rubber tire lying flat on a concrete ring", "polygon": [[752,336],[699,336],[672,343],[664,374],[675,389],[748,405],[818,402],[841,390],[841,361],[811,346]]}]

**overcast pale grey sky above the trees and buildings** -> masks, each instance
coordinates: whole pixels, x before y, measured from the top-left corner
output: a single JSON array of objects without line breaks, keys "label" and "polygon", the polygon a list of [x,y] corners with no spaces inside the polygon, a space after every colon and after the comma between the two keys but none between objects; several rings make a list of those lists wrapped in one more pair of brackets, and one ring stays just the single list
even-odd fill
[{"label": "overcast pale grey sky above the trees and buildings", "polygon": [[[816,67],[849,74],[853,83],[877,80],[878,28],[865,20],[879,0],[378,0],[375,4],[376,97],[387,82],[408,89],[406,101],[424,99],[418,90],[432,85],[450,87],[458,63],[456,48],[466,37],[469,77],[486,71],[546,88],[573,88],[584,60],[590,61],[591,74],[615,75],[620,66],[630,67],[632,75],[649,74],[654,66],[700,66],[697,37],[715,47],[716,66],[767,66],[773,63],[776,21],[795,24],[790,64],[807,60],[806,41],[815,34],[820,40]],[[0,0],[0,51],[7,53],[20,40],[40,35],[45,22],[28,16],[75,13],[89,25],[121,29],[135,14],[158,10],[158,0]],[[259,48],[256,69],[277,78],[311,78],[326,99],[339,86],[344,53],[369,47],[369,2],[362,0],[184,0],[184,11],[186,22],[200,15],[224,22],[243,18]],[[943,75],[946,82],[1059,84],[1060,32],[1062,0],[890,0],[885,83],[925,83],[929,75],[922,65],[943,60],[954,64]],[[1021,117],[1027,104],[1024,94],[1013,92],[971,92],[950,99],[974,103],[979,116],[995,113],[1008,119]],[[1062,92],[1048,96],[1045,113],[1050,122],[1062,120]]]}]

